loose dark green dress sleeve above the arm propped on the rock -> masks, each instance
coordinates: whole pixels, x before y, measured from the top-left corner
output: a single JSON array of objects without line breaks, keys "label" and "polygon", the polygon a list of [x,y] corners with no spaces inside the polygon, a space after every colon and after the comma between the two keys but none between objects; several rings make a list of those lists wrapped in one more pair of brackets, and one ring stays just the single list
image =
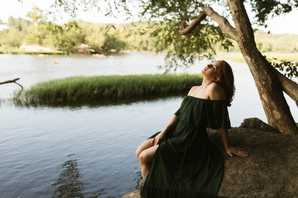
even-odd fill
[{"label": "loose dark green dress sleeve above the arm propped on the rock", "polygon": [[228,107],[225,101],[212,101],[206,104],[207,127],[211,129],[231,129]]}]

